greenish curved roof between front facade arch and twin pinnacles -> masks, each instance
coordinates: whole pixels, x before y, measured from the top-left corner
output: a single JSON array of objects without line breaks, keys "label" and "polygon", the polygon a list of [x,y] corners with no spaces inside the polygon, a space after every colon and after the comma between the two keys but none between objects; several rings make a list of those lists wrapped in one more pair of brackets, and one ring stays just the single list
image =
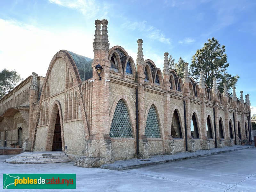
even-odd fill
[{"label": "greenish curved roof between front facade arch and twin pinnacles", "polygon": [[92,61],[88,57],[84,57],[82,55],[78,55],[69,51],[69,54],[72,56],[73,60],[76,63],[76,68],[78,69],[79,76],[81,81],[85,81],[87,79],[92,78]]}]

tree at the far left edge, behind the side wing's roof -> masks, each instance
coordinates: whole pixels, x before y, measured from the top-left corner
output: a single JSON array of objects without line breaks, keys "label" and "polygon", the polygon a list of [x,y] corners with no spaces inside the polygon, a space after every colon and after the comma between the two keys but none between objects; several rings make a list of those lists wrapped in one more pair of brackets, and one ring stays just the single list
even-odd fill
[{"label": "tree at the far left edge, behind the side wing's roof", "polygon": [[17,71],[4,68],[0,71],[0,99],[14,89],[21,78]]}]

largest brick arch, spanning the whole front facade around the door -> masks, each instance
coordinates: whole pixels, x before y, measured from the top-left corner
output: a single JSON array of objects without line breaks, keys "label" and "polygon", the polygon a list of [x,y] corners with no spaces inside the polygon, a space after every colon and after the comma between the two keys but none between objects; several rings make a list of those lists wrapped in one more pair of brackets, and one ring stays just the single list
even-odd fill
[{"label": "largest brick arch, spanning the whole front facade around the door", "polygon": [[[69,52],[66,51],[66,50],[61,50],[61,51],[57,52],[53,56],[53,58],[50,62],[50,65],[48,67],[46,76],[44,78],[42,93],[41,93],[41,97],[40,97],[40,100],[39,100],[39,109],[42,108],[42,98],[43,98],[43,95],[44,95],[45,90],[46,90],[47,81],[48,81],[50,73],[52,71],[52,67],[59,58],[62,58],[66,62],[67,66],[70,70],[71,76],[73,77],[75,90],[77,92],[77,100],[78,100],[78,103],[79,103],[79,107],[80,107],[81,115],[82,115],[82,120],[83,120],[83,124],[84,124],[85,138],[88,139],[89,136],[90,136],[90,132],[89,132],[88,120],[86,118],[85,106],[84,106],[84,102],[83,102],[83,99],[82,99],[82,92],[81,92],[81,88],[80,88],[81,79],[80,79],[80,76],[79,76],[79,73],[78,73],[78,69],[76,68],[75,61],[73,60],[73,58],[69,54]],[[38,115],[37,118],[38,119],[37,119],[36,126],[38,125],[40,115]]]}]

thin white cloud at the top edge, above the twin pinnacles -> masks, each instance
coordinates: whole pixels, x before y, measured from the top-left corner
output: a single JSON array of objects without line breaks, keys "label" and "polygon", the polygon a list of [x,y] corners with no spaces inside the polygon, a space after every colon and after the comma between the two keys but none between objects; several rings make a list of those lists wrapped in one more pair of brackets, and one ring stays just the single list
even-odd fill
[{"label": "thin white cloud at the top edge, above the twin pinnacles", "polygon": [[104,18],[108,14],[108,5],[105,3],[97,3],[95,0],[48,0],[50,3],[58,4],[63,7],[75,9],[86,16],[87,19],[91,18]]}]

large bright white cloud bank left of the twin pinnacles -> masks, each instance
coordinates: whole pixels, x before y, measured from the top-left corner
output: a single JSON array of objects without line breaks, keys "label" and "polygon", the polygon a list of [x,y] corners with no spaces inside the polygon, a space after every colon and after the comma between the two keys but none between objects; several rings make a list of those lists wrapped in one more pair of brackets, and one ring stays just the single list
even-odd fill
[{"label": "large bright white cloud bank left of the twin pinnacles", "polygon": [[[0,70],[15,69],[22,78],[45,76],[54,54],[62,49],[93,58],[92,34],[51,32],[15,20],[0,19]],[[87,46],[84,46],[87,45]]]}]

